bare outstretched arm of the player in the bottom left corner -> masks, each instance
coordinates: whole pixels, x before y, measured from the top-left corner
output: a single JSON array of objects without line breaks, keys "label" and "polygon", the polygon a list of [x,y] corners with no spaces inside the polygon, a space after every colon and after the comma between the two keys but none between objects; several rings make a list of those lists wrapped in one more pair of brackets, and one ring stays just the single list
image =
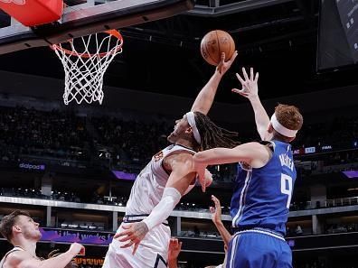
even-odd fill
[{"label": "bare outstretched arm of the player in the bottom left corner", "polygon": [[40,261],[24,251],[14,252],[8,256],[10,266],[18,268],[64,268],[77,254],[84,254],[84,246],[74,243],[70,249],[51,259]]}]

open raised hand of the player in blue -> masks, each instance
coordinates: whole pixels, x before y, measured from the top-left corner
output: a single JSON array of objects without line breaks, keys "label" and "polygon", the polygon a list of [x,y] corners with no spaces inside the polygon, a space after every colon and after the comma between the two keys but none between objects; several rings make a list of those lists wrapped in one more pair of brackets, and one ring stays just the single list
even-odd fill
[{"label": "open raised hand of the player in blue", "polygon": [[259,87],[258,87],[258,80],[259,80],[259,72],[254,75],[254,71],[250,68],[250,78],[248,73],[246,72],[245,68],[242,68],[242,74],[244,79],[240,77],[240,74],[236,73],[236,77],[239,79],[241,83],[241,89],[233,88],[231,91],[234,93],[238,93],[243,97],[247,97],[252,99],[254,97],[259,96]]}]

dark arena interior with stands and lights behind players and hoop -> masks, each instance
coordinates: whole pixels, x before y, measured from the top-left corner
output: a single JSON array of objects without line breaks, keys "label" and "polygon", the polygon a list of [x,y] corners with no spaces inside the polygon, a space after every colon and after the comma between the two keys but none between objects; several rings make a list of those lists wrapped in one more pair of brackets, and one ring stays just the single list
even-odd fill
[{"label": "dark arena interior with stands and lights behind players and hoop", "polygon": [[[357,1],[64,2],[58,22],[38,26],[0,10],[0,219],[30,212],[42,228],[39,256],[79,242],[86,256],[76,263],[101,267],[137,174],[212,76],[200,42],[220,29],[239,55],[221,81],[212,120],[242,143],[259,140],[249,101],[231,93],[242,67],[259,71],[269,115],[285,103],[305,117],[292,144],[297,180],[286,239],[294,267],[358,267]],[[49,45],[108,27],[124,43],[105,72],[102,105],[64,105],[63,67]],[[183,242],[179,267],[222,263],[208,208],[212,194],[221,199],[230,228],[236,165],[211,171],[212,187],[195,187],[168,218]],[[11,248],[1,237],[0,258]]]}]

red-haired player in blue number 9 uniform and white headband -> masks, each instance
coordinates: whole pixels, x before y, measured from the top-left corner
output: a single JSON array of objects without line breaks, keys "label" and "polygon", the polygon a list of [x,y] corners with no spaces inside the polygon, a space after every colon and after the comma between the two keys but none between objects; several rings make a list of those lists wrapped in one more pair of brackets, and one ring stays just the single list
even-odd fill
[{"label": "red-haired player in blue number 9 uniform and white headband", "polygon": [[193,156],[202,186],[208,165],[239,162],[231,199],[232,227],[227,268],[290,268],[292,254],[285,241],[288,208],[296,180],[289,142],[302,127],[296,106],[278,105],[269,119],[258,96],[259,74],[244,79],[233,89],[250,99],[261,143],[244,143],[233,149],[215,148]]}]

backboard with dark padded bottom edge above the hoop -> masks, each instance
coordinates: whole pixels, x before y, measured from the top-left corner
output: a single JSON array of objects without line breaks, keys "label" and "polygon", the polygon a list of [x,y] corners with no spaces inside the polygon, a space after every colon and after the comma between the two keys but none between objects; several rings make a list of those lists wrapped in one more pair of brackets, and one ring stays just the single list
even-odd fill
[{"label": "backboard with dark padded bottom edge above the hoop", "polygon": [[0,54],[163,19],[194,5],[193,0],[65,0],[64,3],[59,21],[35,27],[25,27],[1,13]]}]

